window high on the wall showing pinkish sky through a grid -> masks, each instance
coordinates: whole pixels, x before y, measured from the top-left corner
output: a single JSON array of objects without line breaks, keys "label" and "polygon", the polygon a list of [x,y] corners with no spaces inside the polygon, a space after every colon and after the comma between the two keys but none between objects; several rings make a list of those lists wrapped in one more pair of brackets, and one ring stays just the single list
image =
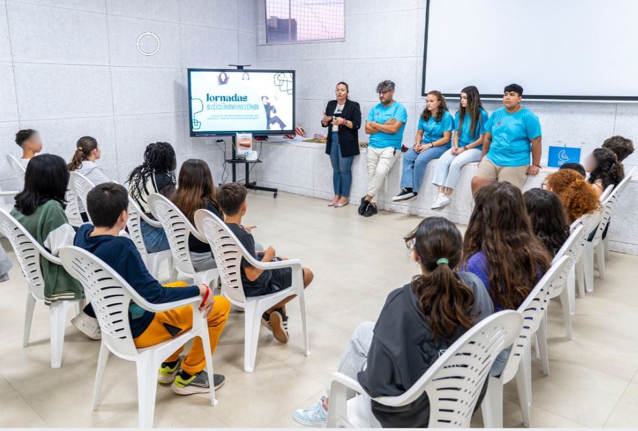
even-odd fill
[{"label": "window high on the wall showing pinkish sky through a grid", "polygon": [[343,39],[345,0],[266,0],[266,43]]}]

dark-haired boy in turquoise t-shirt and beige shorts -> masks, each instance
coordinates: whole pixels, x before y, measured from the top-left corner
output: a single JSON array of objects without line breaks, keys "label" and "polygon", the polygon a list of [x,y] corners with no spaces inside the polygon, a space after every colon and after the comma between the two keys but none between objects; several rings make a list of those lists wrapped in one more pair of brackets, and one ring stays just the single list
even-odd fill
[{"label": "dark-haired boy in turquoise t-shirt and beige shorts", "polygon": [[473,195],[479,187],[492,181],[508,181],[521,188],[527,175],[537,175],[540,171],[540,121],[520,105],[522,96],[523,87],[507,85],[504,107],[494,111],[485,124],[483,157],[472,178]]}]

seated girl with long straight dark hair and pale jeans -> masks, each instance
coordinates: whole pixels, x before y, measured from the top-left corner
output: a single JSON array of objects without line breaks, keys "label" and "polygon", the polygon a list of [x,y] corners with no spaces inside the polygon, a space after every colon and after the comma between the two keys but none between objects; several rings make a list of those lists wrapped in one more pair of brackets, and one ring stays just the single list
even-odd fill
[{"label": "seated girl with long straight dark hair and pale jeans", "polygon": [[474,85],[465,87],[460,93],[460,105],[454,117],[454,140],[452,147],[438,160],[432,184],[438,187],[438,196],[430,208],[440,209],[451,202],[449,196],[456,188],[460,170],[471,162],[481,159],[487,111],[480,103],[480,94]]}]

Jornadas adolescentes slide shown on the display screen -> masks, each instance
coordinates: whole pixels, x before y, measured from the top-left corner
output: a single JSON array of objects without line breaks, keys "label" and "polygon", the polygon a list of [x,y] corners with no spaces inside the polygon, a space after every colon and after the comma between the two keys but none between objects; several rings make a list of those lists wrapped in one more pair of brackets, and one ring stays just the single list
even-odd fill
[{"label": "Jornadas adolescentes slide shown on the display screen", "polygon": [[191,136],[295,130],[295,72],[189,69]]}]

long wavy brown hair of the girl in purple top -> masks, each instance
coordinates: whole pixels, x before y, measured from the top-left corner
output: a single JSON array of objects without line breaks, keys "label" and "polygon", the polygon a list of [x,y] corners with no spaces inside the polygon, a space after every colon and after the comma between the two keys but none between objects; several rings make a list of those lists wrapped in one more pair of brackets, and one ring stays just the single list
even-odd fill
[{"label": "long wavy brown hair of the girl in purple top", "polygon": [[547,271],[551,259],[534,235],[523,195],[509,182],[491,182],[476,191],[476,205],[463,240],[463,266],[482,251],[487,262],[489,296],[515,310]]}]

